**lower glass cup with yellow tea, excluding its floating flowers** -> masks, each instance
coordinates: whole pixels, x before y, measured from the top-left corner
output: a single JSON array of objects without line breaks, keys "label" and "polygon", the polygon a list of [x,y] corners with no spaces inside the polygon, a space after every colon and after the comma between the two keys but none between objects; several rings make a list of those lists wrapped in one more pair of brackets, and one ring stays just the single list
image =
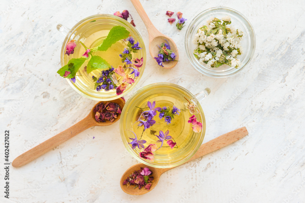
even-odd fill
[{"label": "lower glass cup with yellow tea, excluding its floating flowers", "polygon": [[[198,100],[202,100],[206,97],[209,94],[209,91],[210,89],[205,89],[201,93],[198,93],[196,95],[198,99],[196,99],[196,97],[185,88],[171,83],[154,83],[139,89],[127,100],[120,117],[120,133],[127,151],[141,163],[156,168],[170,168],[185,163],[197,152],[202,144],[206,124],[203,110]],[[198,110],[195,114],[197,121],[201,121],[203,125],[201,132],[194,132],[192,124],[188,123],[188,119],[192,114],[186,108],[188,102],[184,97],[196,105]],[[170,124],[165,123],[164,118],[160,119],[159,112],[156,112],[157,114],[154,116],[156,124],[146,129],[141,136],[144,127],[140,126],[138,128],[137,120],[142,112],[140,108],[147,107],[148,101],[151,103],[156,101],[156,107],[166,106],[171,108],[174,105],[175,107],[178,107],[181,112],[180,115],[174,116],[174,119]],[[139,140],[141,137],[147,141],[144,144],[145,148],[150,143],[160,147],[160,142],[156,143],[158,138],[155,135],[159,135],[160,130],[163,132],[169,130],[169,135],[174,138],[178,148],[170,149],[164,141],[163,147],[155,151],[153,162],[148,161],[139,156],[139,153],[142,152],[143,149],[139,149],[138,147],[132,149],[131,144],[128,144],[128,142],[130,143],[132,141],[130,138],[135,138],[135,135],[130,130],[135,132]]]}]

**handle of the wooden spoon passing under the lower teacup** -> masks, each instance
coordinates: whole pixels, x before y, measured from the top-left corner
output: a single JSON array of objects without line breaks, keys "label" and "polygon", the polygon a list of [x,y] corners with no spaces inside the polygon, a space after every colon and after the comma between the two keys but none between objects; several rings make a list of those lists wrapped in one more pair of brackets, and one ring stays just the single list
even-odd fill
[{"label": "handle of the wooden spoon passing under the lower teacup", "polygon": [[[234,131],[228,132],[224,135],[221,135],[215,139],[212,139],[209,142],[204,143],[203,145],[200,146],[199,150],[196,152],[196,154],[189,159],[187,162],[190,162],[194,159],[197,159],[201,156],[204,156],[208,153],[214,152],[220,148],[223,148],[229,144],[232,144],[233,142],[236,142],[237,140],[245,137],[248,135],[248,131],[246,127],[238,128]],[[185,162],[185,163],[187,163]],[[174,167],[173,167],[174,168]],[[172,168],[165,168],[165,169],[160,169],[161,173],[164,173],[167,170],[170,170]]]}]

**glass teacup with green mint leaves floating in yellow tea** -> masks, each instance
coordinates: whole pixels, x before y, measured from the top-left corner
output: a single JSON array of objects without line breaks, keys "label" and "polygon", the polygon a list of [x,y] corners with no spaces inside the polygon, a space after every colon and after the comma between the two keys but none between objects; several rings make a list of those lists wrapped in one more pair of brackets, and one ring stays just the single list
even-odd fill
[{"label": "glass teacup with green mint leaves floating in yellow tea", "polygon": [[[140,47],[142,47],[142,49],[140,49],[137,53],[133,53],[132,58],[141,59],[143,57],[143,65],[141,68],[139,68],[140,74],[135,79],[135,82],[132,84],[132,86],[128,84],[124,92],[121,95],[117,95],[115,89],[107,92],[104,90],[97,92],[94,89],[94,83],[91,82],[92,81],[91,77],[92,75],[98,76],[99,73],[102,71],[102,69],[94,70],[88,75],[84,70],[84,66],[89,61],[86,60],[76,74],[76,82],[74,83],[70,79],[67,79],[67,82],[70,84],[70,86],[72,86],[72,88],[77,93],[92,100],[98,100],[98,101],[114,100],[124,96],[125,94],[130,92],[133,87],[137,85],[137,83],[139,82],[140,78],[143,75],[146,64],[146,50],[142,37],[140,36],[140,33],[135,29],[135,27],[132,26],[129,22],[118,16],[108,15],[108,14],[98,14],[94,16],[89,16],[78,22],[76,25],[74,25],[71,30],[62,26],[61,24],[57,25],[57,29],[61,33],[66,35],[66,38],[63,42],[63,46],[61,49],[60,62],[62,66],[66,65],[71,58],[81,57],[81,54],[83,54],[86,51],[85,48],[77,42],[81,41],[87,47],[91,47],[91,48],[96,47],[99,44],[101,44],[104,38],[106,38],[106,35],[113,26],[122,26],[126,28],[130,32],[131,37],[135,39],[135,42],[137,41],[139,42],[139,45]],[[105,36],[105,37],[99,38],[99,36]],[[77,46],[74,49],[74,54],[70,54],[70,56],[68,56],[67,54],[65,54],[65,51],[66,51],[66,45],[70,40],[75,40]],[[122,44],[122,47],[115,48],[117,52],[123,52],[125,47],[124,43],[126,43],[126,47],[127,47],[127,42],[125,42],[124,40],[120,40],[120,42]],[[111,49],[111,47],[109,49]],[[93,52],[93,54],[99,55],[103,58],[103,54],[105,53],[102,52],[107,52],[107,51],[97,51],[97,52]],[[114,68],[117,68],[118,65],[122,65],[122,66],[124,65],[120,61],[119,54],[115,54],[111,57],[108,56],[108,58],[104,58],[104,59],[106,59],[106,61],[109,60],[108,61],[109,64],[112,65]],[[112,63],[111,61],[114,62]],[[130,73],[131,71],[132,69],[130,68],[125,69],[126,73]],[[120,78],[119,75],[117,75],[117,77],[118,77],[118,81],[120,82],[120,80],[122,80],[122,77]]]}]

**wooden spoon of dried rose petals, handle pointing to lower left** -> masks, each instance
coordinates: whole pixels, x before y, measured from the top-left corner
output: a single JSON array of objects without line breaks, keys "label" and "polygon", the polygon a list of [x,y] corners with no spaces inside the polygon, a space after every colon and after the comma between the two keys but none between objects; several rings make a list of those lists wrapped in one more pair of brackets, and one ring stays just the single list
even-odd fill
[{"label": "wooden spoon of dried rose petals, handle pointing to lower left", "polygon": [[[101,102],[102,101],[96,103],[95,106]],[[104,101],[104,103],[106,103],[106,102],[107,101]],[[123,109],[123,107],[125,105],[125,101],[121,98],[112,100],[112,101],[108,101],[108,102],[114,102],[114,103],[119,104],[121,110]],[[95,120],[95,113],[93,111],[95,106],[92,108],[92,110],[90,111],[88,116],[85,117],[83,120],[79,121],[77,124],[71,126],[70,128],[66,129],[65,131],[62,131],[61,133],[55,135],[54,137],[46,140],[45,142],[42,142],[41,144],[37,145],[36,147],[34,147],[34,148],[28,150],[27,152],[24,152],[20,156],[18,156],[16,159],[14,159],[12,166],[20,167],[20,166],[27,164],[30,161],[33,161],[34,159],[45,154],[46,152],[50,151],[51,149],[60,145],[61,143],[66,142],[68,139],[73,138],[75,135],[77,135],[78,133],[80,133],[88,128],[91,128],[93,126],[111,125],[120,119],[121,114],[118,114],[117,118],[115,118],[113,122],[110,122],[108,120],[106,120],[106,122],[100,122],[100,123],[97,122]]]}]

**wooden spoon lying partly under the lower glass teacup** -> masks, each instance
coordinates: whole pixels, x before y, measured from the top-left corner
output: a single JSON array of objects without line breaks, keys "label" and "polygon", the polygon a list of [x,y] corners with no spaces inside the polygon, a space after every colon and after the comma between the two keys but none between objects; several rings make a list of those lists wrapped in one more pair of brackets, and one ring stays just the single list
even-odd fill
[{"label": "wooden spoon lying partly under the lower glass teacup", "polygon": [[[245,137],[246,135],[248,135],[248,131],[247,131],[246,127],[238,128],[234,131],[221,135],[221,136],[201,145],[199,150],[196,152],[196,154],[191,159],[189,159],[187,162],[190,162],[190,161],[197,159],[201,156],[204,156],[208,153],[214,152],[217,149],[223,148],[223,147]],[[187,163],[187,162],[185,162],[185,163]],[[123,185],[124,180],[126,180],[126,178],[129,177],[129,175],[131,173],[135,172],[136,170],[140,170],[141,167],[142,168],[148,167],[149,170],[151,170],[151,172],[152,172],[153,182],[152,182],[150,189],[146,190],[143,187],[139,190],[138,187],[136,187],[134,189],[134,185],[130,185],[129,187],[127,187],[126,185]],[[173,167],[173,168],[175,168],[175,167]],[[125,171],[125,173],[123,174],[123,176],[120,180],[121,188],[127,194],[132,194],[132,195],[140,195],[140,194],[148,193],[154,187],[156,187],[162,173],[164,173],[165,171],[168,171],[170,169],[172,169],[172,168],[154,168],[154,167],[146,166],[143,163],[138,163],[136,165],[131,166],[129,169],[127,169]]]}]

